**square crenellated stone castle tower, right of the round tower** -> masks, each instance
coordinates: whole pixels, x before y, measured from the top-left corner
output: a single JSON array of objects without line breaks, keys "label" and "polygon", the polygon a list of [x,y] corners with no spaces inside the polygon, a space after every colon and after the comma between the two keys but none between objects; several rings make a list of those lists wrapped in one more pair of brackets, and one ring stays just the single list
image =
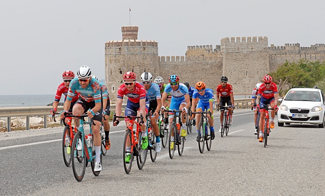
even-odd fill
[{"label": "square crenellated stone castle tower, right of the round tower", "polygon": [[[240,39],[241,38],[241,39]],[[223,73],[234,94],[247,94],[270,72],[267,37],[229,37],[221,39]],[[250,90],[248,90],[250,89]]]}]

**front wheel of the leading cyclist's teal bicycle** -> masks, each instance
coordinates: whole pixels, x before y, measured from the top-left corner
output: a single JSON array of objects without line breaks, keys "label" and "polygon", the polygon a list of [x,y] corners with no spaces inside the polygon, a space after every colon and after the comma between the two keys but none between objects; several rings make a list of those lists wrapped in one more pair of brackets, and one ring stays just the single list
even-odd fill
[{"label": "front wheel of the leading cyclist's teal bicycle", "polygon": [[[79,140],[82,140],[82,134],[80,132],[78,132],[74,135],[74,138],[72,141],[71,154],[73,156],[73,159],[71,159],[71,161],[72,161],[72,171],[73,171],[74,178],[75,178],[75,180],[80,182],[80,181],[82,181],[82,179],[84,178],[84,175],[85,175],[87,158],[85,155],[86,149],[84,149],[84,147],[83,147],[84,153],[82,153],[82,150],[77,150]],[[84,139],[84,141],[86,141],[86,140]],[[84,155],[82,155],[82,154],[84,154]],[[71,158],[72,158],[72,156],[71,156]]]}]

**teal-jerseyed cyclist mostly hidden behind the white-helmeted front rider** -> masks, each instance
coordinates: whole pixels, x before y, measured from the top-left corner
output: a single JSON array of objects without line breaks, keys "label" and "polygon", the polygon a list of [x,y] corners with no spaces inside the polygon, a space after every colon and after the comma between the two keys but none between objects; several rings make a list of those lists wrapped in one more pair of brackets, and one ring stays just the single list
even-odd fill
[{"label": "teal-jerseyed cyclist mostly hidden behind the white-helmeted front rider", "polygon": [[[94,75],[91,75],[94,79],[98,81],[98,78]],[[110,114],[110,100],[109,100],[109,93],[107,91],[107,87],[104,83],[99,83],[101,93],[102,93],[102,102],[103,102],[103,120],[102,123],[104,125],[104,132],[105,132],[105,149],[110,149],[110,139],[109,139],[109,114]]]}]

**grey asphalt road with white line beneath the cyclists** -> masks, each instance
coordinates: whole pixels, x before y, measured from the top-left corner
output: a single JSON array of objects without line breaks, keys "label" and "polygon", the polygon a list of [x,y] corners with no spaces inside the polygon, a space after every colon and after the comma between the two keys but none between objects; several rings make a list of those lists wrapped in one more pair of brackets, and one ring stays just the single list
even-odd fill
[{"label": "grey asphalt road with white line beneath the cyclists", "polygon": [[143,169],[134,163],[130,174],[123,168],[124,127],[114,127],[103,170],[95,177],[87,167],[82,182],[63,162],[63,127],[2,133],[0,195],[324,195],[324,128],[275,126],[264,148],[251,110],[235,110],[224,138],[218,116],[211,151],[199,152],[195,131],[182,156],[175,151],[171,160],[163,148],[155,163],[148,154]]}]

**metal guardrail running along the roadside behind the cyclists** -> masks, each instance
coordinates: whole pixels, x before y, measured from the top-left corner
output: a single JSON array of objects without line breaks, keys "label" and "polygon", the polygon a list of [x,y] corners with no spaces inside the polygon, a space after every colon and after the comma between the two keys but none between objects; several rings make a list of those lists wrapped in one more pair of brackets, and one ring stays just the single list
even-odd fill
[{"label": "metal guardrail running along the roadside behind the cyclists", "polygon": [[[237,99],[235,100],[235,106],[237,109],[241,104],[241,108],[248,108],[252,99]],[[215,102],[216,103],[216,102]],[[115,104],[110,105],[111,111],[115,110]],[[125,109],[126,104],[122,104],[122,109]],[[216,108],[216,107],[215,107]],[[26,130],[29,130],[29,117],[33,115],[44,116],[44,128],[47,128],[47,116],[51,115],[50,110],[52,106],[35,106],[35,107],[3,107],[0,108],[0,117],[7,117],[7,131],[11,131],[11,117],[14,116],[26,116]],[[63,106],[58,107],[58,111],[63,110]]]}]

